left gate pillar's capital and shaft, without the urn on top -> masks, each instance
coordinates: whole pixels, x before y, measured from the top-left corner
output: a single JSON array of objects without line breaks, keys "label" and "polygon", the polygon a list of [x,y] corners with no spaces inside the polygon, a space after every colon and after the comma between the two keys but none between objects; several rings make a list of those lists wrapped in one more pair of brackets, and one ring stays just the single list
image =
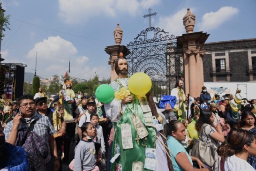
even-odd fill
[{"label": "left gate pillar's capital and shaft, without the urn on top", "polygon": [[128,54],[128,49],[124,45],[113,45],[107,46],[105,48],[105,52],[110,55],[108,65],[111,65],[110,81],[113,82],[114,79],[118,78],[118,75],[114,69],[114,63],[116,59],[119,58],[120,52],[123,53],[123,58],[125,58],[125,56]]}]

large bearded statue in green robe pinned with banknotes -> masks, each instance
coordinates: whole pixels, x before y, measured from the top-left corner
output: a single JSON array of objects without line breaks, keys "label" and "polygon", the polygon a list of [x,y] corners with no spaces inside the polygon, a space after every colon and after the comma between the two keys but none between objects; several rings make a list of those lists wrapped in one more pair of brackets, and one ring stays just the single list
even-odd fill
[{"label": "large bearded statue in green robe pinned with banknotes", "polygon": [[169,171],[162,138],[154,126],[163,128],[163,115],[153,119],[147,99],[129,91],[126,59],[118,58],[114,69],[119,75],[111,83],[115,98],[105,103],[106,116],[114,126],[111,171]]}]

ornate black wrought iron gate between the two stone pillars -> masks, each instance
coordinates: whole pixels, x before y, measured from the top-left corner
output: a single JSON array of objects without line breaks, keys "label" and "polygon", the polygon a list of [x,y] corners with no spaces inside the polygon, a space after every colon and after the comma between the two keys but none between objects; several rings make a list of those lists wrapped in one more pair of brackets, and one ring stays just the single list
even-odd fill
[{"label": "ornate black wrought iron gate between the two stone pillars", "polygon": [[[152,37],[152,38],[150,38]],[[160,28],[147,28],[127,45],[129,75],[144,72],[151,77],[153,96],[170,94],[183,76],[182,48],[177,38]]]}]

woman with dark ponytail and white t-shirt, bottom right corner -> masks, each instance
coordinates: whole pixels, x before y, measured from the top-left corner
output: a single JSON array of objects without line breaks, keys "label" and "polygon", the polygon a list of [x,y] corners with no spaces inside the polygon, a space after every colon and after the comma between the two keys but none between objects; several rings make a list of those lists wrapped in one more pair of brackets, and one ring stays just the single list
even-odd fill
[{"label": "woman with dark ponytail and white t-shirt, bottom right corner", "polygon": [[256,140],[252,133],[238,129],[228,135],[227,143],[221,144],[217,149],[222,157],[220,168],[225,171],[255,171],[248,164],[249,155],[256,155]]}]

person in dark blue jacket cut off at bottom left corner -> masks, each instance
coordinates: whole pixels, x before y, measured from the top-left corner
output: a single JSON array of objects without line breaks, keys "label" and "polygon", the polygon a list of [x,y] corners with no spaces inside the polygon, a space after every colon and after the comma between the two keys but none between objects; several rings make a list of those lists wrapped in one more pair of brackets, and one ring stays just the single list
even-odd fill
[{"label": "person in dark blue jacket cut off at bottom left corner", "polygon": [[5,142],[0,122],[0,171],[28,171],[29,160],[22,147]]}]

